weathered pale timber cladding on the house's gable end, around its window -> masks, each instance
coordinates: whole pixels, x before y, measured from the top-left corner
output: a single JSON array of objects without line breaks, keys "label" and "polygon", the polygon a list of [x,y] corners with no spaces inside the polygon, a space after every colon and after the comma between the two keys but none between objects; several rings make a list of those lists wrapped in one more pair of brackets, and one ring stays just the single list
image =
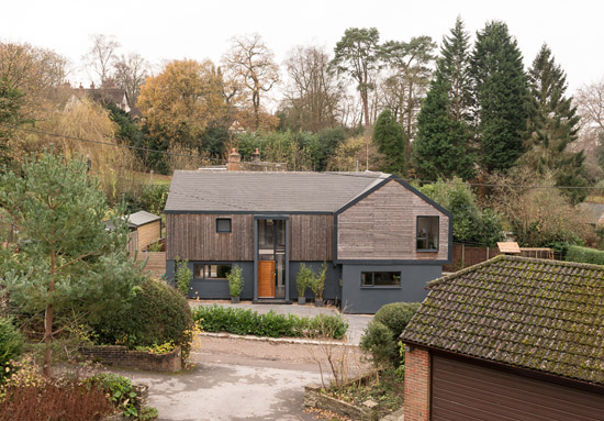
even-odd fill
[{"label": "weathered pale timber cladding on the house's gable end, around its window", "polygon": [[[439,217],[438,252],[416,252],[417,217]],[[337,258],[447,261],[449,218],[391,180],[337,217]]]}]

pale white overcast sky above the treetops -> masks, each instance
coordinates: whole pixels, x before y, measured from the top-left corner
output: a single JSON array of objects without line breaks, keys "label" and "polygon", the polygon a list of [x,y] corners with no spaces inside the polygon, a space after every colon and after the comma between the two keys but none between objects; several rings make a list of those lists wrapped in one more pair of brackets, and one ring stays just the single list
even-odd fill
[{"label": "pale white overcast sky above the treetops", "polygon": [[[548,43],[572,92],[604,77],[603,11],[602,0],[7,0],[0,38],[52,48],[74,66],[94,33],[114,35],[123,53],[137,52],[154,64],[183,57],[217,63],[232,36],[258,32],[282,63],[295,45],[333,51],[353,26],[376,26],[382,41],[429,35],[440,44],[461,15],[472,40],[486,21],[506,22],[526,67]],[[88,84],[77,69],[70,80]]]}]

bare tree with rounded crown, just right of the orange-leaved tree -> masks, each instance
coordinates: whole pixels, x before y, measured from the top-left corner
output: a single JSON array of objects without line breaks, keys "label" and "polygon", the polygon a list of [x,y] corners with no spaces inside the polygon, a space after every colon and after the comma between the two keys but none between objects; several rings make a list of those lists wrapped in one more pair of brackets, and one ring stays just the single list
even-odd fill
[{"label": "bare tree with rounded crown, just right of the orange-leaved tree", "polygon": [[279,66],[259,34],[235,36],[223,57],[224,69],[249,91],[255,128],[260,126],[260,97],[279,81]]}]

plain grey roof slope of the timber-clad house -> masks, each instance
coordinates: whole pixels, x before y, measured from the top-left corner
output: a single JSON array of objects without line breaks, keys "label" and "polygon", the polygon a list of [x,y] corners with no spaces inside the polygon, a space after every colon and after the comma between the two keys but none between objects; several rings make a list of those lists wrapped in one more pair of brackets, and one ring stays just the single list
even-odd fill
[{"label": "plain grey roof slope of the timber-clad house", "polygon": [[166,212],[335,212],[389,178],[382,173],[177,170]]}]

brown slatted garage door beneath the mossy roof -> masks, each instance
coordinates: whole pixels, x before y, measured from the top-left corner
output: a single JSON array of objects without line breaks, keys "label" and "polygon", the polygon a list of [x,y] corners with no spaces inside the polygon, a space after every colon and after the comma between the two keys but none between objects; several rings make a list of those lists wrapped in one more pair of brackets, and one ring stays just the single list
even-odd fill
[{"label": "brown slatted garage door beneath the mossy roof", "polygon": [[433,355],[433,421],[603,421],[604,395]]}]

